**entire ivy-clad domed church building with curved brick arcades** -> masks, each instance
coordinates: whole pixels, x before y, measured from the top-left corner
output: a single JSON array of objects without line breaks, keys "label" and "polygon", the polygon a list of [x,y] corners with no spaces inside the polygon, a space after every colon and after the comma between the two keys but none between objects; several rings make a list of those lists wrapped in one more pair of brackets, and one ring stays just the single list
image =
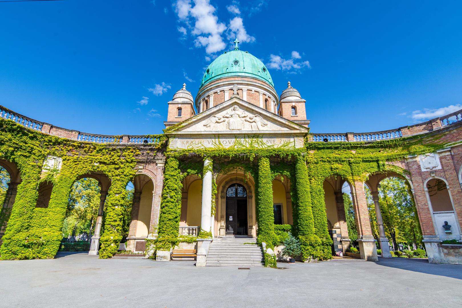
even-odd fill
[{"label": "entire ivy-clad domed church building with curved brick arcades", "polygon": [[[73,181],[93,177],[101,185],[101,205],[90,254],[116,253],[122,240],[117,189],[132,181],[129,250],[156,260],[194,252],[197,266],[262,260],[273,266],[280,235],[291,231],[301,243],[301,260],[328,260],[350,248],[346,184],[359,257],[375,261],[377,241],[382,257],[391,257],[378,187],[396,176],[410,187],[429,261],[461,264],[462,246],[443,241],[461,242],[462,110],[389,131],[322,134],[310,133],[305,102],[290,82],[278,94],[267,67],[236,42],[207,67],[195,97],[184,84],[175,93],[161,135],[81,133],[1,107],[0,165],[11,178],[2,208],[2,259],[25,258],[27,249],[28,258],[53,257],[64,219],[56,213],[65,206],[58,189],[67,192]],[[49,143],[38,145],[38,139]],[[41,158],[24,149],[27,155],[42,151]],[[106,160],[98,151],[120,157]],[[38,167],[26,180],[27,162],[34,159]],[[375,203],[378,239],[365,186]],[[30,248],[19,235],[40,238],[42,246]],[[232,247],[233,240],[255,242],[261,255],[217,256],[217,247]]]}]

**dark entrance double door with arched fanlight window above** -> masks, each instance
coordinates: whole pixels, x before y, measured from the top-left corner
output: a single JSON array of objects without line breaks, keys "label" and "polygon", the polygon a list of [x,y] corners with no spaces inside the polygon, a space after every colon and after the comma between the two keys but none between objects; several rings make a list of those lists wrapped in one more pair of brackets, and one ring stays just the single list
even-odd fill
[{"label": "dark entrance double door with arched fanlight window above", "polygon": [[248,235],[247,191],[241,184],[226,190],[226,235]]}]

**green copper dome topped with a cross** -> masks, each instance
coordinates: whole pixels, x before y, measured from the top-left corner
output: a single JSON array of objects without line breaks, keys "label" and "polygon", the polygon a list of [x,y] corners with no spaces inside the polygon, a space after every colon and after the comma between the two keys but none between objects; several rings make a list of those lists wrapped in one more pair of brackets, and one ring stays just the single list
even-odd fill
[{"label": "green copper dome topped with a cross", "polygon": [[234,50],[221,54],[207,67],[202,78],[201,88],[209,82],[234,76],[246,76],[263,80],[268,84],[273,84],[273,79],[266,66],[247,51],[239,50],[236,43]]}]

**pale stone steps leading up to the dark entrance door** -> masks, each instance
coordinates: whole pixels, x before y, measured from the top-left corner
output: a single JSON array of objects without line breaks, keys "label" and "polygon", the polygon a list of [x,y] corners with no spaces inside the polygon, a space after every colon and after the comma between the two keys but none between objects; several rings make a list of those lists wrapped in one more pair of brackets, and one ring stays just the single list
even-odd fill
[{"label": "pale stone steps leading up to the dark entrance door", "polygon": [[223,236],[213,239],[207,254],[207,266],[263,266],[263,251],[248,236]]}]

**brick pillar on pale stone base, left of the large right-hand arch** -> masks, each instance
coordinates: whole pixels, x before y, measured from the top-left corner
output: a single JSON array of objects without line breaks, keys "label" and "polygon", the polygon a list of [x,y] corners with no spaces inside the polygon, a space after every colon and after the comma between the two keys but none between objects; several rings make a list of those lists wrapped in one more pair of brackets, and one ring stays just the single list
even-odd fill
[{"label": "brick pillar on pale stone base, left of the large right-hand arch", "polygon": [[355,211],[356,229],[358,229],[359,254],[366,261],[378,261],[377,248],[374,236],[372,236],[367,201],[364,192],[364,183],[354,182],[352,191],[353,208]]}]

